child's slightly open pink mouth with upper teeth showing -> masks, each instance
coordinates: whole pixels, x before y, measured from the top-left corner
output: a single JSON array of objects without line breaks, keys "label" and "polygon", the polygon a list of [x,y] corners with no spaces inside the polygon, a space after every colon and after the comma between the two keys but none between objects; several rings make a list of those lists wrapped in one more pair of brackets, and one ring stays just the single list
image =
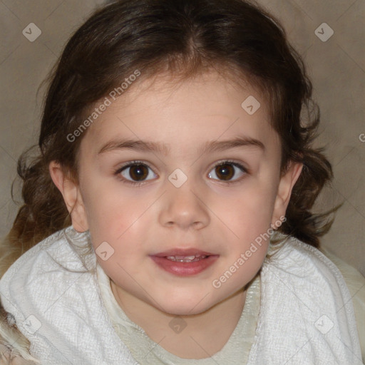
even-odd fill
[{"label": "child's slightly open pink mouth with upper teeth showing", "polygon": [[168,250],[150,255],[150,257],[160,269],[183,277],[203,272],[217,260],[219,255],[192,248]]}]

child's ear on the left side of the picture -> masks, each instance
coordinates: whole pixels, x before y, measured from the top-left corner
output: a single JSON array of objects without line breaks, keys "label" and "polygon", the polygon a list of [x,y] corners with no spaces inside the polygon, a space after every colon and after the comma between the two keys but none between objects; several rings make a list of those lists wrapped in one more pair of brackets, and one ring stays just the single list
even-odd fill
[{"label": "child's ear on the left side of the picture", "polygon": [[68,178],[56,161],[51,161],[48,168],[54,185],[60,190],[68,212],[71,213],[73,228],[78,232],[85,232],[88,230],[88,220],[78,185]]}]

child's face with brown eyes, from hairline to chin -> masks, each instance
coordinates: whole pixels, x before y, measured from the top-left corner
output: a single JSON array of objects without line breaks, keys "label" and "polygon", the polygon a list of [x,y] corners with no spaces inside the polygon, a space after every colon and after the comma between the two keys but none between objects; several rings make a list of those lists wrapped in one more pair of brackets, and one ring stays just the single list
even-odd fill
[{"label": "child's face with brown eyes, from hairline to chin", "polygon": [[[249,96],[261,104],[253,114]],[[91,125],[79,158],[73,224],[86,222],[122,301],[175,315],[204,312],[255,277],[269,240],[240,257],[284,215],[298,175],[280,179],[259,93],[216,73],[133,86]]]}]

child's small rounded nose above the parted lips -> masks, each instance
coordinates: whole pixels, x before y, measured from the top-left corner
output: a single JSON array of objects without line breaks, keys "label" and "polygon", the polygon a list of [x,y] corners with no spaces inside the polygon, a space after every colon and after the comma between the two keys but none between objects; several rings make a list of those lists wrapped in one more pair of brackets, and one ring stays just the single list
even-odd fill
[{"label": "child's small rounded nose above the parted lips", "polygon": [[167,182],[159,220],[164,227],[201,230],[210,223],[209,209],[203,189],[187,181],[180,187]]}]

